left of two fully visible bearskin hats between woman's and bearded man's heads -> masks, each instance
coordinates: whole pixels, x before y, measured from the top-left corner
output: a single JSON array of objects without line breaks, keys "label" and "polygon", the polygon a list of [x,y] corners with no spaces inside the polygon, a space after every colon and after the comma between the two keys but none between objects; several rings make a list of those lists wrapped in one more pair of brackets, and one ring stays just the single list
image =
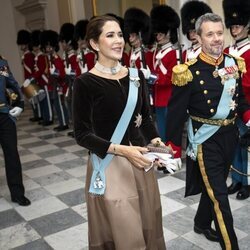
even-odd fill
[{"label": "left of two fully visible bearskin hats between woman's and bearded man's heads", "polygon": [[151,35],[151,21],[149,15],[138,8],[129,8],[124,14],[124,37],[128,41],[129,34],[141,33],[142,42],[147,44]]}]

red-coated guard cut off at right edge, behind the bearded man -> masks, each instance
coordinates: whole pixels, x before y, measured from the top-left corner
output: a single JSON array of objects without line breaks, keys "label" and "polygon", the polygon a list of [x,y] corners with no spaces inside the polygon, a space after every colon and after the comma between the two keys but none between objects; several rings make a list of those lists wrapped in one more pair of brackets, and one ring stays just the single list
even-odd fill
[{"label": "red-coated guard cut off at right edge, behind the bearded man", "polygon": [[[244,58],[246,72],[242,75],[242,87],[247,102],[250,103],[250,40],[248,38],[250,25],[250,1],[223,1],[226,27],[235,40],[234,45],[225,49],[235,57]],[[249,124],[250,125],[250,124]],[[240,135],[247,136],[248,127],[238,122]],[[232,168],[232,184],[228,187],[228,193],[234,194],[238,191],[236,198],[245,200],[249,197],[250,165],[247,144],[238,144]]]}]

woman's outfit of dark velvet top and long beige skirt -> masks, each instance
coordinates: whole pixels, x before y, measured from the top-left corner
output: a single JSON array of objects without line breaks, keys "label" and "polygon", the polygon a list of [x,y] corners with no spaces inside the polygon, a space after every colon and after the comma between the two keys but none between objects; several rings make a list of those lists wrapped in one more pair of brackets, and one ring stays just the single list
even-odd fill
[{"label": "woman's outfit of dark velvet top and long beige skirt", "polygon": [[[145,80],[141,72],[139,76],[137,105],[122,139],[123,145],[144,146],[147,140],[158,137]],[[73,119],[77,143],[100,158],[106,156],[110,138],[126,105],[128,88],[129,76],[118,81],[89,72],[74,83]],[[125,157],[114,156],[105,172],[104,196],[88,193],[91,174],[89,161],[85,187],[89,249],[165,249],[154,170],[145,172],[132,166]]]}]

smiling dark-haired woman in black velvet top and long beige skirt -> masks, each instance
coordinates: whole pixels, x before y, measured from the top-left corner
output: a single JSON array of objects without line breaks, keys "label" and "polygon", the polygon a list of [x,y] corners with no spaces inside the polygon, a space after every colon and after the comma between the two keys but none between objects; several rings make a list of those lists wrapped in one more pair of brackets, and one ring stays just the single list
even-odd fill
[{"label": "smiling dark-haired woman in black velvet top and long beige skirt", "polygon": [[[130,82],[128,69],[119,63],[124,39],[118,21],[111,16],[91,19],[86,40],[98,60],[74,82],[73,117],[78,144],[91,152],[85,188],[89,249],[165,249],[159,189],[153,168],[144,170],[151,162],[143,156],[148,150],[141,132],[151,143],[164,144],[152,122],[143,74],[139,72],[135,81],[137,102],[121,143],[112,143]],[[103,195],[89,192],[95,172],[93,155],[114,156],[105,171],[106,182],[100,182],[100,176],[94,178],[94,188],[105,187]],[[97,179],[101,185],[95,186]]]}]

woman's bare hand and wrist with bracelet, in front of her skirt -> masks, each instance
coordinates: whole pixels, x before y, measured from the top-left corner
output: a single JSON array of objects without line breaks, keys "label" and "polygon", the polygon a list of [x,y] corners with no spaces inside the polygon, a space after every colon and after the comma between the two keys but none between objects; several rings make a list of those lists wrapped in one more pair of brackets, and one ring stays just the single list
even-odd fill
[{"label": "woman's bare hand and wrist with bracelet, in front of her skirt", "polygon": [[143,156],[143,153],[148,152],[145,147],[111,144],[108,152],[126,157],[137,168],[145,168],[151,165],[151,161]]}]

